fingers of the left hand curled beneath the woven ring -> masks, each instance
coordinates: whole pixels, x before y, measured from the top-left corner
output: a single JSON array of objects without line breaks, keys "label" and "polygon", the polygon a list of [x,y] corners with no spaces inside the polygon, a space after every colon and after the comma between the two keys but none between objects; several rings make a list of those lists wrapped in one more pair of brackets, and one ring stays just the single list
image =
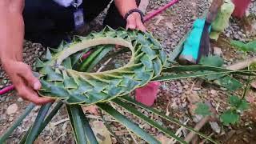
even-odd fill
[{"label": "fingers of the left hand curled beneath the woven ring", "polygon": [[53,102],[53,99],[39,97],[38,94],[30,87],[22,85],[18,86],[18,95],[30,102],[34,102],[36,105],[42,105],[48,102]]}]

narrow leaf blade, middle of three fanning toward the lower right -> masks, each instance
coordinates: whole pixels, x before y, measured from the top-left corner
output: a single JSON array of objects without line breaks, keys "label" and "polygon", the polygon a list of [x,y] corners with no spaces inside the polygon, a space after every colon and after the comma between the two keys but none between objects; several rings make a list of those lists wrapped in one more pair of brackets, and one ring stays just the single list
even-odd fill
[{"label": "narrow leaf blade, middle of three fanning toward the lower right", "polygon": [[118,98],[115,98],[112,100],[114,103],[118,104],[119,106],[122,106],[123,108],[125,108],[126,110],[128,110],[130,112],[130,114],[134,114],[135,116],[137,116],[138,118],[141,118],[142,120],[144,120],[145,122],[147,122],[148,124],[150,124],[151,126],[154,126],[155,128],[157,128],[158,130],[161,130],[163,133],[169,135],[170,137],[176,139],[178,142],[181,143],[186,143],[184,140],[182,140],[182,138],[178,138],[173,132],[171,132],[170,130],[167,130],[166,128],[160,126],[157,122],[154,122],[152,119],[146,117],[144,114],[142,114],[141,112],[139,112],[138,110],[136,110],[133,106],[130,106],[129,104],[127,104],[126,102],[122,102],[121,100],[119,100]]}]

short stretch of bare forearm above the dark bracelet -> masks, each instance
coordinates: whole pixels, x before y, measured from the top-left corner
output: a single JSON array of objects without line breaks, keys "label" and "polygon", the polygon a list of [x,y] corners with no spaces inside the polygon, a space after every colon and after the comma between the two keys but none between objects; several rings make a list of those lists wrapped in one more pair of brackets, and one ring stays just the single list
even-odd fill
[{"label": "short stretch of bare forearm above the dark bracelet", "polygon": [[114,2],[122,17],[124,17],[129,10],[138,8],[135,0],[114,0]]}]

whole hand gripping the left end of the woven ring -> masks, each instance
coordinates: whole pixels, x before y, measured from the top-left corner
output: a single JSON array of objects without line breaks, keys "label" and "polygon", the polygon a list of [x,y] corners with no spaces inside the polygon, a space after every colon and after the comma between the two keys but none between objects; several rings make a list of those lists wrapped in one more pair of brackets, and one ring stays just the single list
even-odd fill
[{"label": "whole hand gripping the left end of the woven ring", "polygon": [[2,66],[18,91],[18,96],[37,105],[53,101],[38,96],[36,90],[41,88],[41,83],[34,77],[30,66],[18,61],[2,62]]}]

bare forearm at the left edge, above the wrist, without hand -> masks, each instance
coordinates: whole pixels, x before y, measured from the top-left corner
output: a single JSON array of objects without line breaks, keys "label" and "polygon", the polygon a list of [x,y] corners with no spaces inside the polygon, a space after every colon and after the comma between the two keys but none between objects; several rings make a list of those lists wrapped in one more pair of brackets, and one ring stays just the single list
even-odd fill
[{"label": "bare forearm at the left edge, above the wrist, without hand", "polygon": [[0,58],[4,64],[10,60],[22,61],[24,22],[23,0],[0,2]]}]

